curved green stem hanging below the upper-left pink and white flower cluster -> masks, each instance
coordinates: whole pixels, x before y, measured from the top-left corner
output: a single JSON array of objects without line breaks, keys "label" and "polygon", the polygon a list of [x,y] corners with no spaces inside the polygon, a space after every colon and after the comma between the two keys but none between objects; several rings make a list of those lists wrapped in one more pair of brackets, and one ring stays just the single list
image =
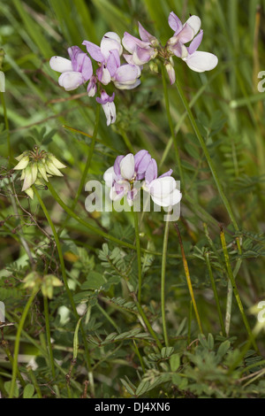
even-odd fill
[{"label": "curved green stem hanging below the upper-left pink and white flower cluster", "polygon": [[[97,135],[97,132],[98,132],[98,127],[99,127],[100,109],[101,109],[101,104],[98,104],[97,103],[96,104],[96,110],[95,110],[95,127],[94,127],[94,132],[93,132],[92,139],[91,139],[91,144],[90,144],[89,150],[88,150],[88,156],[87,156],[86,166],[84,168],[84,172],[82,173],[81,180],[79,182],[79,189],[77,190],[76,196],[75,196],[75,198],[74,198],[74,200],[72,202],[72,205],[71,205],[71,210],[72,211],[74,211],[74,209],[76,207],[76,204],[78,203],[80,193],[84,189],[85,181],[87,179],[87,173],[88,173],[88,170],[89,170],[90,165],[91,165],[92,157],[93,157],[94,150],[95,150],[96,135]],[[64,220],[64,223],[63,223],[62,227],[60,228],[60,230],[58,230],[58,235],[60,235],[61,232],[63,231],[64,225],[69,220],[69,217],[70,217],[70,214],[68,213],[68,215],[66,216],[66,218]]]}]

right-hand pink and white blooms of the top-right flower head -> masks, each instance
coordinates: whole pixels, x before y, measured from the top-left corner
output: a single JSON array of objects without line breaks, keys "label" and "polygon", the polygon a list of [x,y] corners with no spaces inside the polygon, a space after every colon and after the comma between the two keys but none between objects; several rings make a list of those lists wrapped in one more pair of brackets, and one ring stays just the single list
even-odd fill
[{"label": "right-hand pink and white blooms of the top-right flower head", "polygon": [[[186,65],[198,73],[211,71],[216,67],[218,64],[216,55],[197,51],[203,37],[201,19],[198,16],[191,16],[183,25],[180,19],[178,19],[178,16],[174,12],[170,12],[169,25],[175,33],[167,42],[166,50],[168,52],[183,59]],[[186,47],[186,43],[188,42],[191,43]]]}]

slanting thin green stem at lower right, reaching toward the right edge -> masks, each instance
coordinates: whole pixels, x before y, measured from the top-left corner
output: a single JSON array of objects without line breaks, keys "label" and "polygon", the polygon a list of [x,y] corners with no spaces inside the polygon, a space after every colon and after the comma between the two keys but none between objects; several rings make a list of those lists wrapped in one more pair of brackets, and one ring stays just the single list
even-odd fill
[{"label": "slanting thin green stem at lower right, reaching toward the right edge", "polygon": [[221,237],[221,243],[222,243],[222,247],[223,247],[223,256],[224,256],[224,260],[225,260],[225,265],[226,265],[228,277],[231,281],[231,287],[233,289],[234,296],[236,297],[236,300],[237,300],[237,303],[238,303],[238,306],[239,306],[239,312],[241,313],[242,320],[245,324],[248,337],[249,337],[250,341],[252,342],[255,351],[259,352],[257,344],[256,344],[255,339],[254,339],[254,335],[252,333],[252,330],[251,330],[251,328],[249,326],[249,323],[248,323],[248,320],[246,318],[246,313],[244,311],[243,304],[242,304],[241,299],[239,297],[239,289],[237,287],[237,284],[236,284],[236,281],[235,281],[235,278],[234,278],[234,275],[233,275],[233,272],[232,272],[232,269],[231,269],[231,262],[230,262],[226,242],[225,242],[225,235],[224,235],[224,232],[223,232],[223,228],[221,228],[220,237]]}]

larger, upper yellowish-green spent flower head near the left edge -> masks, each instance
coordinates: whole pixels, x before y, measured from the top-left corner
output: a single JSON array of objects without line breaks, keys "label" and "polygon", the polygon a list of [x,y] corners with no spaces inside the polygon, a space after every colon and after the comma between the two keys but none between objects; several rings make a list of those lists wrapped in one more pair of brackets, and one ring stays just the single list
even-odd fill
[{"label": "larger, upper yellowish-green spent flower head near the left edge", "polygon": [[34,190],[32,185],[45,185],[50,176],[63,176],[59,169],[64,166],[54,155],[36,146],[34,150],[26,150],[16,158],[19,163],[14,170],[21,170],[20,180],[23,181],[22,191],[32,199]]}]

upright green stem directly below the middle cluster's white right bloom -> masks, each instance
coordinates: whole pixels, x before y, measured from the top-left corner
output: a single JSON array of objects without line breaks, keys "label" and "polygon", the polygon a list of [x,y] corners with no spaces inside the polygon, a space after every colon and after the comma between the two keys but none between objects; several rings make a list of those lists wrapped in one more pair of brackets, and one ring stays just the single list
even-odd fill
[{"label": "upright green stem directly below the middle cluster's white right bloom", "polygon": [[162,254],[162,267],[161,267],[161,314],[162,314],[162,324],[163,324],[163,337],[166,347],[169,346],[169,338],[167,333],[166,326],[166,316],[165,316],[165,271],[167,264],[167,250],[168,250],[168,241],[169,241],[169,232],[170,232],[170,221],[166,221],[163,235],[163,254]]}]

